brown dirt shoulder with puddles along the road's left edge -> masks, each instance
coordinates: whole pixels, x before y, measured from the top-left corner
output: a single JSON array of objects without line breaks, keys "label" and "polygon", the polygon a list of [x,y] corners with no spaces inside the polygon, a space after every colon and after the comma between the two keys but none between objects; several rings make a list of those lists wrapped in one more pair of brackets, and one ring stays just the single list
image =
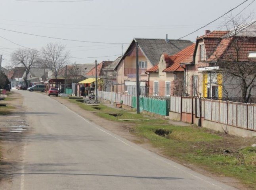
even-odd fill
[{"label": "brown dirt shoulder with puddles along the road's left edge", "polygon": [[[26,108],[23,106],[23,97],[17,92],[11,92],[5,104],[10,105],[8,108],[10,114],[0,116],[0,186],[1,189],[10,189],[11,175],[17,171],[22,161],[23,139],[29,130],[23,133],[12,132],[17,126],[27,126],[25,118]],[[5,108],[1,108],[2,110]],[[16,128],[17,129],[17,128]]]}]

